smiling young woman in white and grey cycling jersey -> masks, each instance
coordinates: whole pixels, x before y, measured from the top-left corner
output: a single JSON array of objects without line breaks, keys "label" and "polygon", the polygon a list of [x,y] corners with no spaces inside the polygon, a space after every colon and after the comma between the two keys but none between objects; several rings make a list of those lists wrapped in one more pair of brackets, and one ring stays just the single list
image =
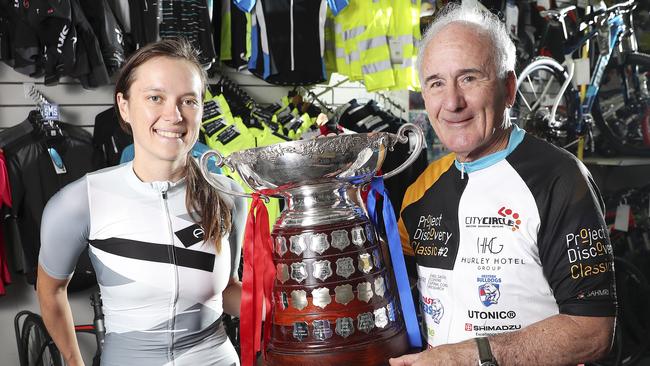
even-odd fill
[{"label": "smiling young woman in white and grey cycling jersey", "polygon": [[86,247],[104,303],[102,365],[239,364],[220,319],[239,314],[246,203],[217,194],[191,158],[205,87],[186,41],[138,50],[115,85],[134,160],[86,175],[45,208],[37,292],[68,365],[83,364],[66,287]]}]

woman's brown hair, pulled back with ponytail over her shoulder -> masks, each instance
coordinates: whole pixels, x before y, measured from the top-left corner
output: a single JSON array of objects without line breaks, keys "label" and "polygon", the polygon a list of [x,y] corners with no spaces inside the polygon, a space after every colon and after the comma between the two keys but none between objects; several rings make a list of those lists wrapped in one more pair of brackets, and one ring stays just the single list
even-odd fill
[{"label": "woman's brown hair, pulled back with ponytail over her shoulder", "polygon": [[[115,82],[115,111],[120,127],[128,134],[132,134],[131,126],[124,121],[117,104],[117,94],[122,93],[124,99],[129,99],[129,89],[135,80],[135,70],[145,62],[155,57],[169,57],[183,59],[195,66],[201,78],[201,99],[205,94],[207,77],[198,59],[198,51],[184,38],[170,38],[150,43],[138,49],[124,64]],[[221,237],[230,231],[231,215],[228,206],[219,196],[217,191],[205,181],[201,175],[198,164],[192,158],[192,153],[187,155],[185,166],[187,192],[185,207],[193,220],[197,221],[205,232],[205,241],[213,241],[217,252],[221,251]],[[197,215],[198,214],[198,217]]]}]

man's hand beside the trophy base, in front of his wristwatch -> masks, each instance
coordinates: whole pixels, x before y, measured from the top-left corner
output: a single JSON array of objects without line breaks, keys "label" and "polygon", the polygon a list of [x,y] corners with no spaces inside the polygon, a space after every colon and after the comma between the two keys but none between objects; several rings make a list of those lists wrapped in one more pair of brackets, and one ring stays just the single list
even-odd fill
[{"label": "man's hand beside the trophy base, in front of his wristwatch", "polygon": [[391,366],[463,366],[476,365],[478,353],[474,340],[445,344],[420,353],[391,358]]}]

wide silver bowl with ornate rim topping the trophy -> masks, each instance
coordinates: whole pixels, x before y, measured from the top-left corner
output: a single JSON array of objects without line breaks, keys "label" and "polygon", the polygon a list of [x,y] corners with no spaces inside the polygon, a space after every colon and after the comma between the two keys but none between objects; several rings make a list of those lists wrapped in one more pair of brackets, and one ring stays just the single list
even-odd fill
[{"label": "wide silver bowl with ornate rim topping the trophy", "polygon": [[[236,171],[255,191],[280,193],[295,187],[332,182],[360,185],[369,182],[377,173],[388,150],[392,150],[397,142],[408,141],[408,131],[414,131],[417,136],[420,130],[415,125],[405,124],[397,134],[337,135],[246,149],[228,157],[218,153],[214,156],[217,165]],[[419,149],[421,144],[420,141]],[[412,155],[412,160],[417,156]],[[411,163],[407,160],[402,169],[384,177],[398,174]]]}]

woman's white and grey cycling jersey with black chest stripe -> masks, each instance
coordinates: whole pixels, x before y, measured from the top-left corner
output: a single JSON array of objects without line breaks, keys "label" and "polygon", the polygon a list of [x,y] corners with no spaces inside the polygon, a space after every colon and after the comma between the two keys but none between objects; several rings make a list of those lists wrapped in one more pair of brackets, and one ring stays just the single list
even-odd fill
[{"label": "woman's white and grey cycling jersey with black chest stripe", "polygon": [[185,194],[184,179],[145,183],[127,163],[87,174],[45,208],[39,263],[50,276],[69,278],[89,248],[105,314],[102,365],[239,364],[220,317],[222,292],[237,277],[246,202],[224,197],[233,225],[216,253]]}]

